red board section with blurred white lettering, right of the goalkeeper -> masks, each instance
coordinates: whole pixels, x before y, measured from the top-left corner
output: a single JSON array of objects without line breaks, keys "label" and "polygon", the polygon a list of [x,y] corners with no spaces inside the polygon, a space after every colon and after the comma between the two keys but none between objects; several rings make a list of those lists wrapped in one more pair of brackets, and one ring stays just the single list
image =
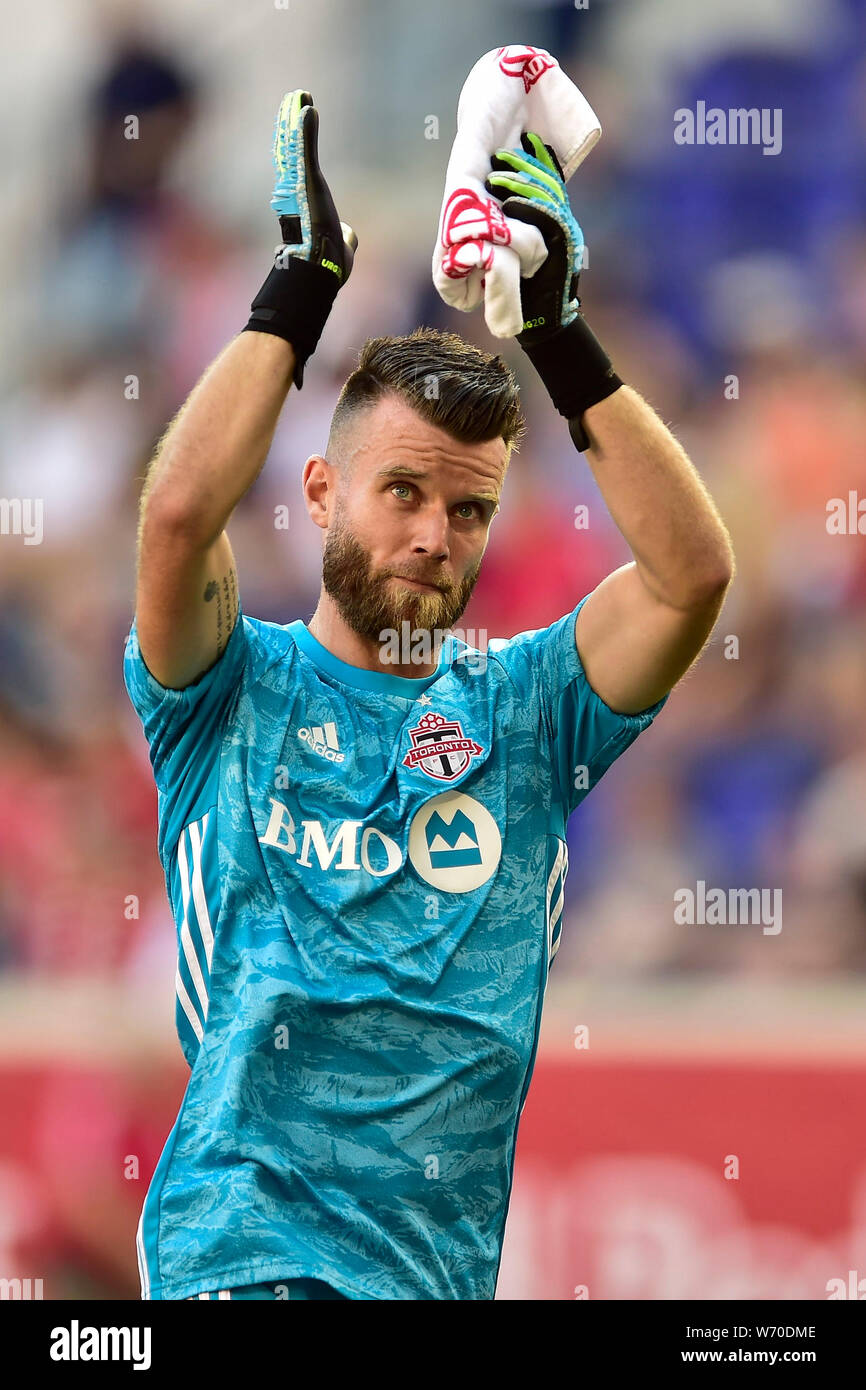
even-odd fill
[{"label": "red board section with blurred white lettering, right of the goalkeeper", "polygon": [[866,1298],[866,1068],[539,1061],[499,1298],[831,1294]]}]

